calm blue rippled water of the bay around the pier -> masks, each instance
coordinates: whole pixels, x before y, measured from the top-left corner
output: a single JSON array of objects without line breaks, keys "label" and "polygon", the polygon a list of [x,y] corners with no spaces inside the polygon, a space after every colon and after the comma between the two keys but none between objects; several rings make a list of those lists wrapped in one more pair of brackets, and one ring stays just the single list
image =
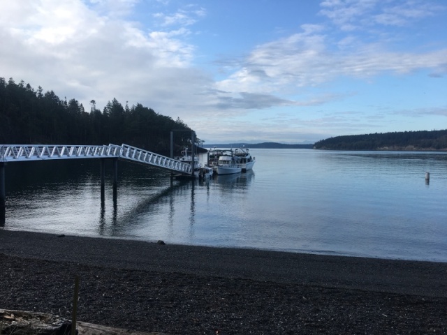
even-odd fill
[{"label": "calm blue rippled water of the bay around the pier", "polygon": [[[8,163],[5,229],[447,262],[447,154],[251,149],[207,182],[99,160]],[[430,183],[425,181],[430,172]]]}]

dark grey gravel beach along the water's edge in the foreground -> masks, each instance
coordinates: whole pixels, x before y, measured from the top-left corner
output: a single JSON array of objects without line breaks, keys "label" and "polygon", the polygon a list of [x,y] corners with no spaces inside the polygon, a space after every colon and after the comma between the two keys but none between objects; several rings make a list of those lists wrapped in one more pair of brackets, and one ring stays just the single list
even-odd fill
[{"label": "dark grey gravel beach along the water's edge in the foreground", "polygon": [[0,308],[167,334],[447,334],[447,263],[0,229]]}]

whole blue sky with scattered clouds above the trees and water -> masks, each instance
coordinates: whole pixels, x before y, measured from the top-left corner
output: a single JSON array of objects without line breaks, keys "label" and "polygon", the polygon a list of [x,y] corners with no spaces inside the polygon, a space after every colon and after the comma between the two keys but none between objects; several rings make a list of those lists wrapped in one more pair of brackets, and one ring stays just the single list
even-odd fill
[{"label": "whole blue sky with scattered clouds above the trees and water", "polygon": [[0,77],[205,144],[447,128],[446,0],[0,0]]}]

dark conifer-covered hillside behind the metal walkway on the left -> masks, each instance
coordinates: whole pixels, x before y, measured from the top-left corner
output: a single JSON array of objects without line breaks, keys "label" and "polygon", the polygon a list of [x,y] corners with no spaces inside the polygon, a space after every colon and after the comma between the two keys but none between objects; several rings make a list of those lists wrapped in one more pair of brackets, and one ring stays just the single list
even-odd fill
[{"label": "dark conifer-covered hillside behind the metal walkway on the left", "polygon": [[[130,144],[161,154],[170,152],[170,131],[191,130],[180,119],[157,114],[141,104],[123,106],[115,98],[103,111],[94,100],[85,107],[74,98],[37,90],[23,80],[0,77],[0,143],[3,144]],[[188,132],[176,133],[177,147]],[[200,140],[198,140],[200,141]],[[191,145],[191,144],[189,144]]]}]

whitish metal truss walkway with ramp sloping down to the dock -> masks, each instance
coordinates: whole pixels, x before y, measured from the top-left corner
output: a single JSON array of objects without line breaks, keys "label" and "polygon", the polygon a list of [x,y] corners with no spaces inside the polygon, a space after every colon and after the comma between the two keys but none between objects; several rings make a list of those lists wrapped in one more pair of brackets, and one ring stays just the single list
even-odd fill
[{"label": "whitish metal truss walkway with ramp sloping down to the dock", "polygon": [[0,144],[0,163],[43,161],[49,159],[122,158],[181,174],[191,174],[191,165],[127,144],[41,145]]}]

